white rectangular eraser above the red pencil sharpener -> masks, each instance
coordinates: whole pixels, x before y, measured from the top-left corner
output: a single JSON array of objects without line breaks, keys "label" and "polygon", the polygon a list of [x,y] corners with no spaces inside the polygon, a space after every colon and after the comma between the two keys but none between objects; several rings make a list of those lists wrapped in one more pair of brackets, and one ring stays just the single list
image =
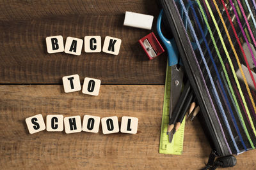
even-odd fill
[{"label": "white rectangular eraser above the red pencil sharpener", "polygon": [[125,12],[124,25],[141,29],[151,29],[154,16],[141,13]]}]

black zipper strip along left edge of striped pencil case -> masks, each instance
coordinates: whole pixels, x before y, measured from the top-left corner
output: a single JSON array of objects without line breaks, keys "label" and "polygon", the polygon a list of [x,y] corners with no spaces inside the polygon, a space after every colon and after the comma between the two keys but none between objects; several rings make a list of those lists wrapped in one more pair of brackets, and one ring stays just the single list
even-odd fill
[{"label": "black zipper strip along left edge of striped pencil case", "polygon": [[[168,4],[168,1],[167,1],[167,2],[165,1],[164,3],[165,3],[166,6],[168,6],[167,11],[169,11],[169,12],[171,13],[171,15],[172,15],[172,11],[170,10],[170,4]],[[176,11],[179,11],[174,1],[172,1],[172,5],[175,7],[175,10],[176,10]],[[179,17],[179,21],[181,21],[180,15],[178,14],[177,16]],[[172,17],[172,16],[171,16],[171,17]],[[174,21],[173,21],[173,22],[174,22]],[[181,24],[181,25],[182,25],[182,24]],[[184,28],[184,25],[182,25],[182,27],[183,27],[184,30],[186,30],[186,29]],[[189,41],[189,37],[188,37],[187,32],[184,31],[184,33],[186,34],[187,41]],[[190,49],[192,49],[191,44],[190,44],[190,43],[188,43],[188,44],[189,44],[189,46],[190,46]],[[195,57],[195,52],[194,52],[193,50],[189,50],[189,52],[191,52],[191,54],[192,54],[193,57],[195,58],[196,66],[197,66],[198,68],[200,68],[200,66],[199,66],[199,64],[198,64],[198,62],[197,62],[197,60],[196,60],[196,57]],[[203,83],[204,83],[204,86],[207,87],[201,69],[198,69],[198,71],[200,72],[200,77],[202,78],[202,81],[203,81]],[[195,79],[195,78],[194,78],[194,79]],[[196,80],[196,79],[195,79],[195,80]],[[206,89],[206,88],[205,88],[205,89]],[[207,90],[207,89],[206,89],[206,90]],[[214,145],[215,145],[215,147],[219,146],[219,147],[217,147],[217,148],[220,148],[219,151],[221,151],[221,152],[223,153],[223,155],[227,155],[227,152],[228,152],[228,154],[232,154],[232,152],[231,152],[231,150],[230,150],[230,148],[229,148],[229,146],[228,146],[227,139],[225,138],[225,134],[224,134],[224,132],[223,132],[223,127],[222,127],[222,125],[220,124],[220,119],[218,118],[218,115],[217,115],[217,113],[216,113],[216,109],[215,109],[214,104],[213,104],[213,102],[212,102],[212,98],[211,98],[211,96],[210,96],[210,94],[209,94],[209,90],[207,90],[206,94],[207,94],[207,96],[208,96],[208,98],[209,98],[209,101],[210,101],[210,103],[211,103],[211,108],[212,108],[212,110],[213,110],[213,112],[214,112],[214,115],[211,115],[209,112],[207,112],[207,113],[208,113],[208,117],[207,117],[205,114],[202,114],[202,115],[203,115],[203,117],[204,117],[204,120],[205,120],[205,122],[206,122],[206,125],[208,126],[209,131],[213,132],[213,134],[215,135],[215,138],[212,138],[212,139],[214,140]],[[204,100],[202,99],[202,101],[204,101]],[[204,108],[205,108],[205,105],[204,105]],[[207,110],[207,108],[205,108],[205,109]],[[214,116],[215,116],[215,117],[214,117]],[[221,131],[221,135],[222,135],[221,138],[220,138],[220,134],[219,134],[219,133],[216,131],[216,129],[215,129],[216,127],[215,127],[214,123],[212,122],[212,118],[211,118],[211,117],[212,117],[214,120],[215,120],[215,118],[216,118],[216,120],[217,120],[217,122],[218,122],[218,125],[220,125],[219,127],[220,127],[220,131]],[[209,118],[210,118],[211,120],[210,120]],[[210,126],[210,125],[211,125],[211,126]],[[214,131],[214,130],[212,131],[211,129],[215,129],[215,131]],[[225,145],[224,145],[224,143],[225,143]],[[219,155],[220,155],[220,154],[219,154]]]}]

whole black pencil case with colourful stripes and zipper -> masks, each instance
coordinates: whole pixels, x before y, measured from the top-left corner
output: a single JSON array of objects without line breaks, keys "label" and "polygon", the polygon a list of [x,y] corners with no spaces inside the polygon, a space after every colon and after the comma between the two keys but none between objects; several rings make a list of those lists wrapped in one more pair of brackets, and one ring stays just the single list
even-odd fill
[{"label": "whole black pencil case with colourful stripes and zipper", "polygon": [[[227,162],[234,157],[225,156],[256,147],[255,0],[161,0],[159,4],[212,145],[207,168],[231,166]],[[214,161],[215,156],[222,158]]]}]

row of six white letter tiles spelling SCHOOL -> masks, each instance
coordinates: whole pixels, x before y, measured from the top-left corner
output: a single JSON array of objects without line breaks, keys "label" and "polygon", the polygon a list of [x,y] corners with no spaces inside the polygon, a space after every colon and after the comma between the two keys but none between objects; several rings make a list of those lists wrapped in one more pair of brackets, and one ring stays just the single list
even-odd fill
[{"label": "row of six white letter tiles spelling SCHOOL", "polygon": [[[26,124],[30,134],[45,130],[44,118],[41,114],[26,118]],[[64,125],[63,125],[64,124]],[[113,134],[119,132],[118,118],[104,117],[101,118],[103,134]],[[76,132],[99,132],[100,117],[84,115],[83,125],[80,116],[63,117],[63,115],[47,115],[46,131],[61,132],[65,127],[67,134]],[[127,134],[136,134],[138,129],[138,118],[122,117],[121,132]]]}]

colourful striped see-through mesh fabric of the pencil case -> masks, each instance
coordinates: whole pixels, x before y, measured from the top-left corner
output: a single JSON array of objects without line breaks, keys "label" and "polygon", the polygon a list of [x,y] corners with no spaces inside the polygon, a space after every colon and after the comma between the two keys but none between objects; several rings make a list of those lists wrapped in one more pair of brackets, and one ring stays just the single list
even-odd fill
[{"label": "colourful striped see-through mesh fabric of the pencil case", "polygon": [[[253,53],[253,48],[256,48],[253,35],[256,31],[255,0],[245,0],[243,4],[240,0],[172,1],[180,13],[180,21],[184,22],[191,49],[192,45],[194,47],[196,66],[225,145],[230,153],[254,149],[256,81],[250,66],[256,66]],[[242,44],[248,46],[247,53]],[[237,71],[240,76],[237,76]],[[250,86],[249,79],[252,80]]]}]

